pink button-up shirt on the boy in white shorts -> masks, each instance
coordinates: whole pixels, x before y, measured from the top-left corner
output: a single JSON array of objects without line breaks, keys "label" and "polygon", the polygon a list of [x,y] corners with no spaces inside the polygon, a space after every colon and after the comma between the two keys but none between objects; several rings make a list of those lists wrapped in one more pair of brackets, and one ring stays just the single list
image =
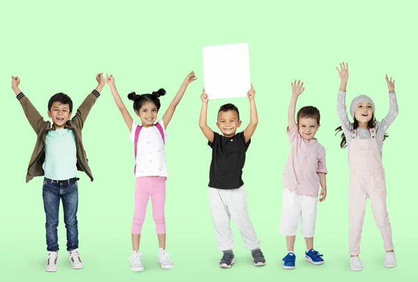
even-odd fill
[{"label": "pink button-up shirt on the boy in white shorts", "polygon": [[318,197],[318,173],[327,173],[325,148],[315,138],[310,141],[303,139],[297,125],[286,132],[291,150],[283,173],[284,186],[296,191],[297,195]]}]

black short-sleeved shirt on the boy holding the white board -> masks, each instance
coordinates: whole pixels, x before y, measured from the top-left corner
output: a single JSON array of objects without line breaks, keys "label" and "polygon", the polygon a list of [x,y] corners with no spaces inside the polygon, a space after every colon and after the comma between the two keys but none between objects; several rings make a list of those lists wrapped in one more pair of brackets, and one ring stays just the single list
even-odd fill
[{"label": "black short-sleeved shirt on the boy holding the white board", "polygon": [[238,189],[244,185],[242,169],[249,143],[251,143],[251,139],[245,143],[244,132],[232,137],[225,137],[213,132],[213,142],[208,141],[208,145],[212,148],[209,187]]}]

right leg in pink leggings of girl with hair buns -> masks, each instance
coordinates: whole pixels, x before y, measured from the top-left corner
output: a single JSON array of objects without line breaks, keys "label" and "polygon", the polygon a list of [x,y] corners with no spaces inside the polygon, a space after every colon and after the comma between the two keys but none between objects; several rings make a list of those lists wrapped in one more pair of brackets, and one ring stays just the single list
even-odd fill
[{"label": "right leg in pink leggings of girl with hair buns", "polygon": [[166,199],[166,178],[152,178],[150,183],[151,201],[153,203],[153,219],[158,236],[160,248],[165,249],[166,245],[166,224],[164,217],[164,206]]}]

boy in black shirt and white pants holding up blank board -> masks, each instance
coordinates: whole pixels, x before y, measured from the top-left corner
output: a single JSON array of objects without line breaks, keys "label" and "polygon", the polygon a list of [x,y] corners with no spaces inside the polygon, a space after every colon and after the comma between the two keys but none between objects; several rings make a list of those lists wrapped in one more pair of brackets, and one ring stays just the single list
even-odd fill
[{"label": "boy in black shirt and white pants holding up blank board", "polygon": [[224,136],[213,132],[206,123],[208,95],[203,89],[202,109],[199,125],[212,148],[212,162],[209,174],[209,204],[212,221],[215,226],[217,246],[223,251],[219,267],[231,267],[235,263],[231,231],[231,218],[240,230],[245,246],[251,251],[254,265],[265,265],[265,258],[260,249],[260,241],[251,224],[247,211],[247,191],[242,181],[242,169],[245,164],[251,136],[258,123],[254,88],[248,91],[251,119],[244,132],[236,133],[241,125],[240,113],[233,104],[224,104],[218,112],[217,127]]}]

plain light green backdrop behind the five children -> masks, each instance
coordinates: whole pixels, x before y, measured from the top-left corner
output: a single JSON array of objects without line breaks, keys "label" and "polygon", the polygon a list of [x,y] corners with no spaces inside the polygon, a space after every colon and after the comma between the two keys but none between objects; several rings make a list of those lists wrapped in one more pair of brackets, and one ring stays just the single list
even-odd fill
[{"label": "plain light green backdrop behind the five children", "polygon": [[[414,178],[417,139],[417,4],[413,1],[1,1],[1,279],[90,281],[91,279],[239,279],[242,281],[330,280],[389,281],[415,276],[418,228]],[[210,148],[198,126],[203,88],[202,47],[249,43],[251,81],[256,90],[259,125],[247,152],[244,181],[251,220],[268,265],[252,266],[251,256],[233,225],[237,262],[220,269],[210,217],[207,185]],[[376,116],[389,107],[385,74],[396,79],[400,113],[389,127],[383,161],[387,172],[387,205],[398,267],[385,269],[382,239],[369,201],[362,253],[364,271],[350,272],[348,256],[348,164],[339,148],[336,65],[350,63],[348,104],[355,95],[370,95]],[[189,86],[168,127],[167,251],[174,269],[157,263],[157,238],[151,205],[144,224],[141,252],[145,271],[130,271],[130,226],[134,208],[133,146],[108,86],[84,127],[84,146],[95,177],[79,173],[79,250],[84,269],[70,268],[60,214],[59,270],[44,270],[45,213],[42,178],[25,183],[36,135],[10,88],[20,88],[38,110],[63,91],[75,109],[96,86],[95,75],[109,72],[131,113],[127,93],[165,88],[162,117],[188,72],[198,80]],[[320,109],[316,137],[327,150],[327,191],[318,204],[315,248],[325,265],[304,261],[304,241],[297,236],[295,271],[282,269],[285,239],[278,234],[281,173],[288,155],[286,115],[291,82],[306,89],[297,109]],[[215,129],[221,104],[233,102],[249,122],[247,98],[209,102],[208,124]],[[270,277],[270,278],[269,278]]]}]

